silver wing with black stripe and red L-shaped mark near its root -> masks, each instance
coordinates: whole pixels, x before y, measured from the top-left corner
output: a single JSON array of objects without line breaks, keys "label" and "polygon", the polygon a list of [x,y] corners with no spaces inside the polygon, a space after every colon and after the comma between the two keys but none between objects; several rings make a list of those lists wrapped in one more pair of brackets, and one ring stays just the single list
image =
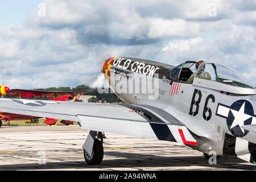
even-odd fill
[{"label": "silver wing with black stripe and red L-shaped mark near its root", "polygon": [[[86,130],[197,144],[195,136],[181,122],[163,110],[154,109],[139,105],[0,99],[0,111],[6,113],[76,121]],[[153,122],[148,119],[152,117],[155,117]]]}]

